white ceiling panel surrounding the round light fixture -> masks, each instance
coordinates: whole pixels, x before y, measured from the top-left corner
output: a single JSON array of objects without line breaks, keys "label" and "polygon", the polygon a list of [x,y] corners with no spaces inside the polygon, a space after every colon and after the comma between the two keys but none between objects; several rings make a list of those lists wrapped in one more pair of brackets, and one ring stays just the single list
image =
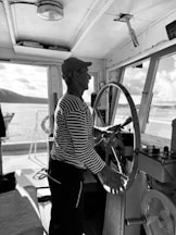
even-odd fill
[{"label": "white ceiling panel surrounding the round light fixture", "polygon": [[37,15],[35,4],[11,4],[16,40],[32,40],[70,48],[70,42],[81,24],[93,0],[61,1],[64,16],[60,21],[45,21]]}]

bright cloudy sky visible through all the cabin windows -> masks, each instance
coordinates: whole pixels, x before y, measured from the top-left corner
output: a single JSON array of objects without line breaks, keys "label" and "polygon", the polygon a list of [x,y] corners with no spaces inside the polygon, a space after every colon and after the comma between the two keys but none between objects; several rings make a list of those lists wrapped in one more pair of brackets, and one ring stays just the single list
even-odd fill
[{"label": "bright cloudy sky visible through all the cabin windows", "polygon": [[[139,102],[143,89],[149,62],[142,69],[127,69],[124,85],[133,98]],[[65,86],[64,86],[65,87]],[[90,101],[93,78],[84,98]],[[47,98],[47,67],[0,63],[0,88],[9,89],[24,96]],[[176,102],[176,55],[164,58],[159,63],[154,85],[155,102]]]}]

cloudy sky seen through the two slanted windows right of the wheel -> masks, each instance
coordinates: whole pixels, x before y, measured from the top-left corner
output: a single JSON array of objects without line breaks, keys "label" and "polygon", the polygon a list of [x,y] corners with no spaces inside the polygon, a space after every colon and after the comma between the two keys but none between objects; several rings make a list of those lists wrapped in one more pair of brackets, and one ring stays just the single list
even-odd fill
[{"label": "cloudy sky seen through the two slanted windows right of the wheel", "polygon": [[[127,69],[125,72],[124,85],[133,95],[133,99],[139,103],[149,61],[143,62],[142,69]],[[133,85],[133,86],[131,86]],[[176,103],[176,55],[163,58],[159,62],[156,78],[153,88],[153,102]]]}]

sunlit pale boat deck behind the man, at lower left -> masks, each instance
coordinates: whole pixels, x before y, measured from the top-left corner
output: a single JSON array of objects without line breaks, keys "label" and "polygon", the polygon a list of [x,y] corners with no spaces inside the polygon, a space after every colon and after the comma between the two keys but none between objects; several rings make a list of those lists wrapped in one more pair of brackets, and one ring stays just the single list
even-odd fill
[{"label": "sunlit pale boat deck behind the man, at lower left", "polygon": [[[3,174],[15,172],[16,183],[21,187],[34,186],[36,188],[41,223],[48,232],[51,209],[50,189],[46,175],[40,173],[42,169],[48,168],[47,150],[39,150],[37,153],[30,154],[27,150],[2,151],[2,162]],[[48,196],[48,200],[46,196]],[[46,199],[39,202],[41,197],[46,197]]]}]

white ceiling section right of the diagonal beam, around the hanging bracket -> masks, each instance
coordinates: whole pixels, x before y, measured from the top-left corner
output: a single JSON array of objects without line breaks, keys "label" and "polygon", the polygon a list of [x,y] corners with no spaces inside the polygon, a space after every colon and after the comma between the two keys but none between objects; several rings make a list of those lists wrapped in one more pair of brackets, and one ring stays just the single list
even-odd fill
[{"label": "white ceiling section right of the diagonal beam, around the hanging bracket", "polygon": [[[84,40],[74,51],[75,54],[106,58],[115,48],[122,48],[126,44],[133,45],[128,27],[124,22],[114,21],[121,13],[131,14],[130,25],[137,38],[142,32],[147,32],[149,25],[156,23],[164,15],[176,8],[176,1],[114,1],[99,21],[93,24]],[[140,41],[139,41],[140,44]],[[137,50],[137,49],[136,49]]]}]

